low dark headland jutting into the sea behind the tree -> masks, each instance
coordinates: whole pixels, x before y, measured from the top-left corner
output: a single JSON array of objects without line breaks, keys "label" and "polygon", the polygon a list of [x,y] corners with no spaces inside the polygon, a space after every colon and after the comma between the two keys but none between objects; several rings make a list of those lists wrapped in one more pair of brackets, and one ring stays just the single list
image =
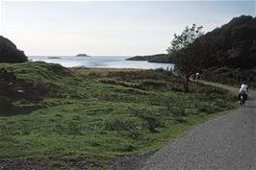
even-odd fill
[{"label": "low dark headland jutting into the sea behind the tree", "polygon": [[126,61],[149,61],[149,62],[171,62],[166,54],[150,55],[150,56],[136,56],[126,59]]}]

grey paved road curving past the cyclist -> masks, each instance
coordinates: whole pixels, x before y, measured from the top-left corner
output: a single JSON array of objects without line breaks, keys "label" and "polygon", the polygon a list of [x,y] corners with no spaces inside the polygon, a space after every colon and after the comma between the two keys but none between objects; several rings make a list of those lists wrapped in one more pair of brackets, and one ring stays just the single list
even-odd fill
[{"label": "grey paved road curving past the cyclist", "polygon": [[141,170],[256,170],[256,92],[249,96],[245,108],[204,123],[169,143]]}]

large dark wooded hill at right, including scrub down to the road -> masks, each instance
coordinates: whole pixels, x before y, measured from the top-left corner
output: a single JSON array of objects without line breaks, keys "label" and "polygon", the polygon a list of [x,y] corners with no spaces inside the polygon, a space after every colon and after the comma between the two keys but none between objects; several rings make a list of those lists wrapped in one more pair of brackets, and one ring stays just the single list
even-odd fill
[{"label": "large dark wooded hill at right, including scrub down to the road", "polygon": [[256,88],[255,17],[235,17],[198,37],[182,52],[190,55],[204,80],[228,85],[241,85],[246,81],[250,88]]}]

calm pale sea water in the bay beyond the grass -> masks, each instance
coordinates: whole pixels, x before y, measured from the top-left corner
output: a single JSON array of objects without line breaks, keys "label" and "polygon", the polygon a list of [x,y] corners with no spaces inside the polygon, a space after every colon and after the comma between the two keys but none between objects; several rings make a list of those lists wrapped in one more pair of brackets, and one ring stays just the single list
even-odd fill
[{"label": "calm pale sea water in the bay beyond the grass", "polygon": [[142,69],[170,69],[173,67],[171,63],[153,63],[147,61],[125,61],[130,57],[73,57],[58,56],[61,59],[49,59],[49,57],[31,56],[32,61],[46,61],[52,63],[60,63],[65,67],[98,67],[98,68],[142,68]]}]

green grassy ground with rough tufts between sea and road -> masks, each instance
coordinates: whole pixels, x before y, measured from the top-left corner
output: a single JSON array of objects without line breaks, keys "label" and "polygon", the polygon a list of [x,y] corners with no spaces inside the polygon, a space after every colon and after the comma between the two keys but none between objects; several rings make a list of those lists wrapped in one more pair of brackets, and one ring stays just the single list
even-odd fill
[{"label": "green grassy ground with rough tufts between sea and road", "polygon": [[0,111],[0,158],[36,158],[51,168],[72,158],[110,169],[115,158],[160,148],[236,101],[207,85],[183,93],[183,80],[164,70],[70,70],[44,62],[0,68],[16,78],[0,79],[13,93],[0,91],[12,104]]}]

